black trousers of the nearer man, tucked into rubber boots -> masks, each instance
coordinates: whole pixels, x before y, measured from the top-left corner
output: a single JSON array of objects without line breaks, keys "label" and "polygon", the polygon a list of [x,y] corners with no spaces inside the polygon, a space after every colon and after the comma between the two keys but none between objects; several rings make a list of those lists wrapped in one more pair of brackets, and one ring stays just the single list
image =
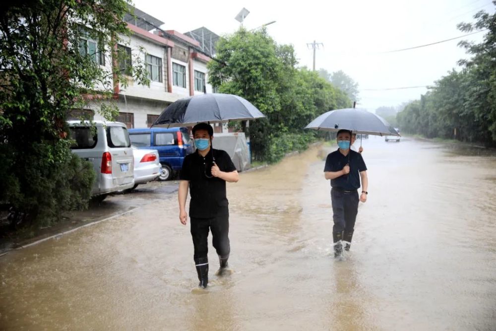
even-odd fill
[{"label": "black trousers of the nearer man, tucked into rubber boots", "polygon": [[212,231],[212,244],[218,255],[231,252],[229,244],[229,213],[212,218],[190,219],[191,238],[193,239],[194,258],[206,258],[208,254],[208,231]]}]

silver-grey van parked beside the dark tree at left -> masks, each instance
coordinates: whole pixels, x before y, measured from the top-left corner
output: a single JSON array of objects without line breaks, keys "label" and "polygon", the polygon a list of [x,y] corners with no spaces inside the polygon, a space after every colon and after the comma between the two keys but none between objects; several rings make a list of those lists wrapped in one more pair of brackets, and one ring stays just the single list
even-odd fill
[{"label": "silver-grey van parked beside the dark tree at left", "polygon": [[134,186],[134,161],[123,123],[68,121],[72,152],[91,161],[96,173],[91,195],[102,201],[109,193]]}]

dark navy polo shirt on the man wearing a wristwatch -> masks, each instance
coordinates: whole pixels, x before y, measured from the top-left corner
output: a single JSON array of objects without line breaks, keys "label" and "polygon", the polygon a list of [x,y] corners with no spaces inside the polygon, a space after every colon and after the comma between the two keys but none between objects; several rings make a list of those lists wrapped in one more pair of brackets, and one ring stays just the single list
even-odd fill
[{"label": "dark navy polo shirt on the man wearing a wristwatch", "polygon": [[[331,186],[346,191],[353,191],[360,188],[360,172],[366,171],[367,166],[365,165],[362,154],[357,153],[354,150],[350,150],[349,153],[350,173],[348,175],[343,175],[339,176],[338,178],[331,179]],[[348,164],[348,155],[344,156],[343,154],[341,154],[338,148],[338,150],[327,155],[327,159],[325,160],[324,172],[340,171],[346,164]]]}]

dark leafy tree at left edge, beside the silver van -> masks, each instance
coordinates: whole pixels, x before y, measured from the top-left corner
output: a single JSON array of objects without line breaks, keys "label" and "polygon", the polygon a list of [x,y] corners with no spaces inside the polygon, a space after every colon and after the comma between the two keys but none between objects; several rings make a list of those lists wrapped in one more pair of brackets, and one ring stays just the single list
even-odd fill
[{"label": "dark leafy tree at left edge, beside the silver van", "polygon": [[2,4],[0,202],[24,211],[34,224],[87,205],[94,174],[70,153],[67,114],[92,100],[112,118],[114,83],[125,84],[124,73],[131,71],[148,82],[144,67],[131,70],[125,51],[115,49],[129,34],[127,12],[125,0]]}]

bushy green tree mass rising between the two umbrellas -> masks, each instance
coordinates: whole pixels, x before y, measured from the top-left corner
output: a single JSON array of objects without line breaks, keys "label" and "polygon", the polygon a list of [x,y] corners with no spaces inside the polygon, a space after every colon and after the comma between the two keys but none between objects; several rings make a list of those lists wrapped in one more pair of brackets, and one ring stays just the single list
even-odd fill
[{"label": "bushy green tree mass rising between the two umbrellas", "polygon": [[346,95],[317,73],[298,68],[294,48],[278,45],[265,30],[240,29],[221,38],[209,82],[223,93],[243,96],[267,118],[250,122],[255,160],[275,162],[305,149],[315,132],[303,129],[316,116],[349,105]]}]

